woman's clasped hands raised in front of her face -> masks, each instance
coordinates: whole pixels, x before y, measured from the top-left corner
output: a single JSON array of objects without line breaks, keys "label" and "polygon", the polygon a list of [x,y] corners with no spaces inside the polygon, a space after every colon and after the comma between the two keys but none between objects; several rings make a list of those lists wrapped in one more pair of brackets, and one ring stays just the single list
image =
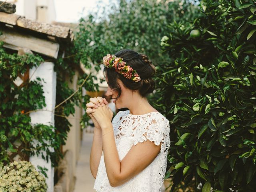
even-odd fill
[{"label": "woman's clasped hands raised in front of her face", "polygon": [[108,108],[108,102],[105,98],[90,98],[90,102],[86,104],[86,113],[92,119],[95,128],[107,128],[111,124],[113,112]]}]

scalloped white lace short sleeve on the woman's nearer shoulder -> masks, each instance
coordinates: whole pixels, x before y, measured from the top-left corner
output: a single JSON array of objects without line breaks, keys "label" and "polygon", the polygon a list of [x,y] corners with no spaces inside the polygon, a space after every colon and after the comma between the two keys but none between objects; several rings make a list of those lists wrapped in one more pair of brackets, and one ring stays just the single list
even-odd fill
[{"label": "scalloped white lace short sleeve on the woman's nearer shoulder", "polygon": [[164,116],[151,116],[145,124],[137,129],[134,145],[150,140],[155,145],[161,144],[161,152],[164,153],[170,147],[169,132],[169,121]]}]

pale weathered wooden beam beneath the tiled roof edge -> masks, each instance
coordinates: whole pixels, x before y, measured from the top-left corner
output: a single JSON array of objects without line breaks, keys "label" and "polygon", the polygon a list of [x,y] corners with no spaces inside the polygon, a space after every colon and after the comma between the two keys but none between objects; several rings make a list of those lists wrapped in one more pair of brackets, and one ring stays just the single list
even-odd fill
[{"label": "pale weathered wooden beam beneath the tiled roof edge", "polygon": [[30,35],[19,34],[12,30],[3,29],[2,33],[3,34],[0,35],[0,41],[5,43],[4,47],[6,48],[13,50],[27,48],[33,52],[37,52],[51,58],[58,57],[60,45],[56,42],[36,38]]}]

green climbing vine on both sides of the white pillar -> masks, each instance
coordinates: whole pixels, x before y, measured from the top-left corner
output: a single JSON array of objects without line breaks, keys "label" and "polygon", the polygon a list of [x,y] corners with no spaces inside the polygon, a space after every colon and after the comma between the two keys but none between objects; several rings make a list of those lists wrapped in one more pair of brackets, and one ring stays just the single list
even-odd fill
[{"label": "green climbing vine on both sides of the white pillar", "polygon": [[[42,156],[57,166],[63,157],[61,146],[65,144],[70,122],[68,116],[75,113],[75,106],[86,108],[89,96],[82,94],[82,88],[89,91],[98,90],[94,84],[96,76],[81,74],[78,90],[69,88],[75,69],[79,67],[81,47],[79,44],[66,45],[65,58],[51,60],[57,73],[55,125],[31,124],[30,112],[42,110],[46,106],[42,89],[43,79],[27,80],[22,86],[14,81],[28,69],[38,67],[45,60],[38,55],[18,55],[0,44],[0,166],[12,161],[18,154],[22,159],[29,156]],[[90,68],[90,63],[84,64]],[[98,68],[97,68],[98,70]],[[33,74],[32,74],[33,75]],[[68,98],[68,99],[67,99]],[[65,101],[65,102],[63,102]],[[84,128],[89,118],[84,114],[81,126]]]}]

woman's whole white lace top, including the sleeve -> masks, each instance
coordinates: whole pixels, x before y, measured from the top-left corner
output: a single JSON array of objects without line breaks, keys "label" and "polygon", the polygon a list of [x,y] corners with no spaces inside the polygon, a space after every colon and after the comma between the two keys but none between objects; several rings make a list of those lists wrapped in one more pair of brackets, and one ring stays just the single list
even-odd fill
[{"label": "woman's whole white lace top, including the sleeve", "polygon": [[161,150],[148,167],[117,187],[109,184],[102,152],[94,189],[97,192],[161,192],[170,147],[169,121],[159,112],[132,115],[129,111],[120,111],[112,124],[120,162],[138,142],[150,140],[156,145],[161,144]]}]

